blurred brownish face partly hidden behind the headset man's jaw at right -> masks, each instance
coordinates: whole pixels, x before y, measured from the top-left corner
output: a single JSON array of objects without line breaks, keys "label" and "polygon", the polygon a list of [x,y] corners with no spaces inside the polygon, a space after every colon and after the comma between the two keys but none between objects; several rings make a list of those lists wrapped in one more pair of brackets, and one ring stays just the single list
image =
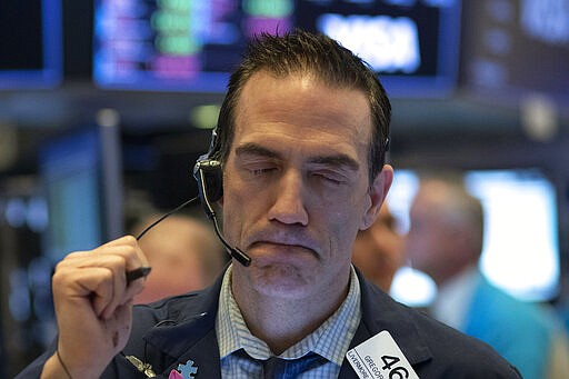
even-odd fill
[{"label": "blurred brownish face partly hidden behind the headset man's jaw at right", "polygon": [[352,262],[363,276],[389,293],[397,270],[403,266],[403,237],[387,202],[376,222],[358,231],[352,253]]}]

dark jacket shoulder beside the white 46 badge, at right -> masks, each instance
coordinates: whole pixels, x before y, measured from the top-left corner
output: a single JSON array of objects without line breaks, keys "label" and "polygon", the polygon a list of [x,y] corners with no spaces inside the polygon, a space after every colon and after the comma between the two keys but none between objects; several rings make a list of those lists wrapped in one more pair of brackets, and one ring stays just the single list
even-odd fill
[{"label": "dark jacket shoulder beside the white 46 badge, at right", "polygon": [[393,300],[366,280],[361,287],[369,335],[358,343],[388,330],[421,378],[520,378],[489,345]]}]

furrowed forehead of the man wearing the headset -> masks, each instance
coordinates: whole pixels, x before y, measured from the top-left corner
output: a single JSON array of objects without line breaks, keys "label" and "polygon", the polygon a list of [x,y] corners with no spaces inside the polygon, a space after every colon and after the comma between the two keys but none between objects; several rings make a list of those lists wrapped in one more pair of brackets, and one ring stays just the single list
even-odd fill
[{"label": "furrowed forehead of the man wearing the headset", "polygon": [[260,71],[243,87],[236,112],[236,138],[251,133],[263,134],[266,140],[299,139],[367,152],[371,138],[368,98],[361,90],[330,87],[313,76],[276,78]]}]

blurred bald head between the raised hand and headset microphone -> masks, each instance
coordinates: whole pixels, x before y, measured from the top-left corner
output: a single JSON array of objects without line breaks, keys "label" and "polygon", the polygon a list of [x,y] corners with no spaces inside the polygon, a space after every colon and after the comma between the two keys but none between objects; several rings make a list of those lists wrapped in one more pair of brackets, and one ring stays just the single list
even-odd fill
[{"label": "blurred bald head between the raised hand and headset microphone", "polygon": [[[139,236],[161,215],[142,218],[132,228]],[[211,285],[223,270],[228,256],[211,226],[188,215],[172,215],[139,241],[152,271],[134,303],[197,291]]]}]

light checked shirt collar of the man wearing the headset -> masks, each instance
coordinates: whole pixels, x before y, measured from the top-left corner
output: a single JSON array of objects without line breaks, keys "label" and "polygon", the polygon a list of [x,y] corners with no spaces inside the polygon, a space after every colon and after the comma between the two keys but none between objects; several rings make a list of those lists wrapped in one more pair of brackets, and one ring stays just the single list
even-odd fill
[{"label": "light checked shirt collar of the man wearing the headset", "polygon": [[[231,292],[231,267],[226,271],[219,295],[216,333],[221,359],[244,349],[254,359],[272,356],[267,343],[251,335],[239,306]],[[361,319],[360,283],[353,267],[350,269],[348,296],[340,308],[317,330],[287,349],[281,358],[295,359],[313,351],[338,366],[342,365],[346,352]]]}]

